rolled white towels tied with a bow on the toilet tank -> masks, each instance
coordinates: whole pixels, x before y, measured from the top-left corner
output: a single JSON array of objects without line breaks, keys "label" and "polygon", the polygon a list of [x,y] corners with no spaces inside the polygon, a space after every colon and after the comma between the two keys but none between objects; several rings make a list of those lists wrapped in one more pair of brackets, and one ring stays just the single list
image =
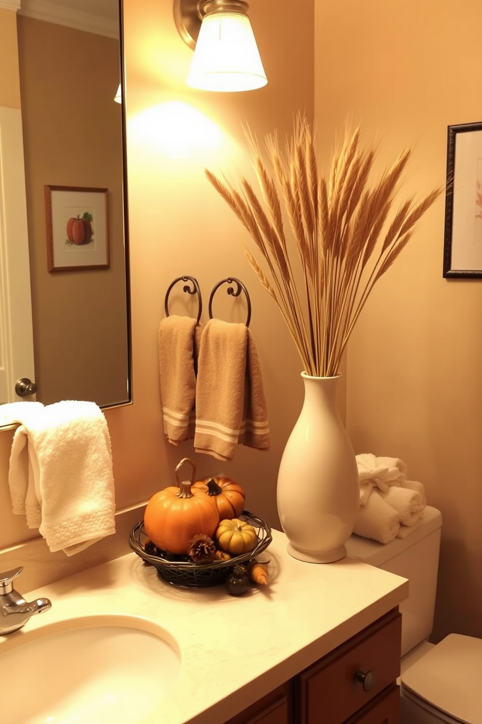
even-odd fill
[{"label": "rolled white towels tied with a bow on the toilet tank", "polygon": [[421,523],[426,497],[423,484],[407,479],[400,458],[356,455],[360,510],[354,532],[380,543],[405,538]]}]

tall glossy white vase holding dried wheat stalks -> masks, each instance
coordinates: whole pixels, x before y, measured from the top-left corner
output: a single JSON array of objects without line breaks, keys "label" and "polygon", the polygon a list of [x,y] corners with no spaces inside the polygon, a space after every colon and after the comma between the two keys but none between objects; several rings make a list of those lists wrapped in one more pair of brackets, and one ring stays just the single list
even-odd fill
[{"label": "tall glossy white vase holding dried wheat stalks", "polygon": [[284,151],[276,135],[267,135],[268,164],[254,135],[246,135],[259,198],[245,178],[237,190],[208,169],[206,175],[251,237],[256,256],[246,248],[249,264],[280,309],[304,366],[304,405],[277,477],[288,551],[332,563],[345,556],[359,506],[356,458],[335,400],[340,361],[371,290],[442,189],[392,211],[410,150],[371,183],[376,153],[361,148],[359,127],[347,127],[326,177],[305,117],[296,117]]}]

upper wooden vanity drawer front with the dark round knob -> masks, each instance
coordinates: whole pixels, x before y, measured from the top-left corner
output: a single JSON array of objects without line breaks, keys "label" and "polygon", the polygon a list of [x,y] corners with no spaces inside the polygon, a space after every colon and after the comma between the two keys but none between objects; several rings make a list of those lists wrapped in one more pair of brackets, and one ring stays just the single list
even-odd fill
[{"label": "upper wooden vanity drawer front with the dark round knob", "polygon": [[[402,615],[392,610],[298,676],[300,724],[342,724],[400,674]],[[365,691],[358,672],[376,680]]]}]

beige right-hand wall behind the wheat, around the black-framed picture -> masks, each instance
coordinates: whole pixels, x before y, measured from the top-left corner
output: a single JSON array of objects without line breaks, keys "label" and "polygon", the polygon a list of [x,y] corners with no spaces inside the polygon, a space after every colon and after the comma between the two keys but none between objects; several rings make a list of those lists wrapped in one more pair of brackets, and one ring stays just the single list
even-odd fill
[{"label": "beige right-hand wall behind the wheat, around the black-framed picture", "polygon": [[[479,0],[316,3],[315,104],[353,113],[381,163],[413,148],[403,191],[444,183],[447,125],[482,121]],[[434,639],[482,635],[481,282],[442,278],[444,199],[379,282],[348,346],[356,452],[405,460],[442,510]]]}]

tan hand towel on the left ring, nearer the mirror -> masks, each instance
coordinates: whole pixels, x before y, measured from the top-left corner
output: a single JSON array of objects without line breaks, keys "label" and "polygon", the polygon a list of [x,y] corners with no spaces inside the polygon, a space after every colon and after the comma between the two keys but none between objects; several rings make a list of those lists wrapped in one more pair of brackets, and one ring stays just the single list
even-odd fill
[{"label": "tan hand towel on the left ring, nearer the mirror", "polygon": [[164,434],[171,445],[194,437],[197,345],[201,327],[189,316],[160,322],[159,381]]}]

